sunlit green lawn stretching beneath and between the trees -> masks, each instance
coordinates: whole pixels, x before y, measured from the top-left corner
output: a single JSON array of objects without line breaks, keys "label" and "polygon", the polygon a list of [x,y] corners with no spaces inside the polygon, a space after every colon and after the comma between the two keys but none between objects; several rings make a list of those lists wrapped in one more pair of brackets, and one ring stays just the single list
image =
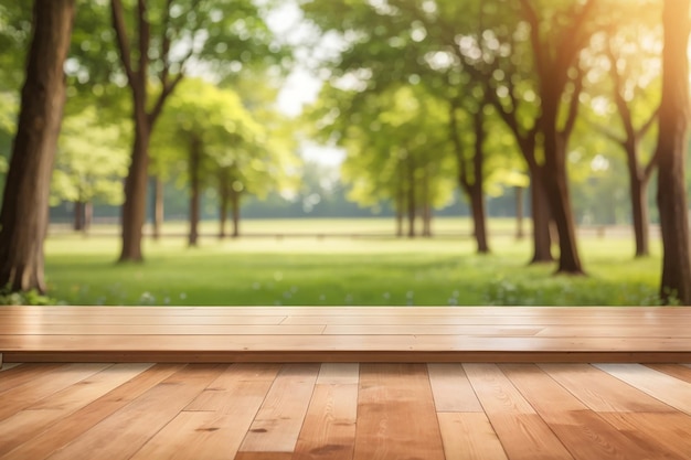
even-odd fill
[{"label": "sunlit green lawn stretching beneath and between the trees", "polygon": [[[374,222],[379,222],[375,224]],[[390,221],[252,222],[258,233],[358,233],[392,229]],[[379,226],[376,226],[379,225]],[[587,277],[552,276],[527,266],[530,242],[492,223],[492,254],[475,254],[468,223],[439,221],[458,236],[202,238],[146,240],[145,264],[116,265],[113,236],[55,234],[45,245],[49,295],[73,304],[448,306],[653,304],[660,259],[634,260],[629,238],[582,237]],[[174,228],[174,227],[173,227]],[[182,228],[182,226],[180,226]],[[319,229],[317,229],[319,228]],[[212,233],[215,226],[206,229]],[[172,232],[168,228],[169,232]],[[297,231],[295,231],[297,232]]]}]

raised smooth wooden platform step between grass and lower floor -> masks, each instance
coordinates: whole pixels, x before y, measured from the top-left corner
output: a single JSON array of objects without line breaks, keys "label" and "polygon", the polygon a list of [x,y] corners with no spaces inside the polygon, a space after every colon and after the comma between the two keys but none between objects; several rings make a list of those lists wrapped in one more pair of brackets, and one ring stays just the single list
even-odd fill
[{"label": "raised smooth wooden platform step between grass and lower floor", "polygon": [[691,308],[0,307],[6,362],[691,362]]}]

